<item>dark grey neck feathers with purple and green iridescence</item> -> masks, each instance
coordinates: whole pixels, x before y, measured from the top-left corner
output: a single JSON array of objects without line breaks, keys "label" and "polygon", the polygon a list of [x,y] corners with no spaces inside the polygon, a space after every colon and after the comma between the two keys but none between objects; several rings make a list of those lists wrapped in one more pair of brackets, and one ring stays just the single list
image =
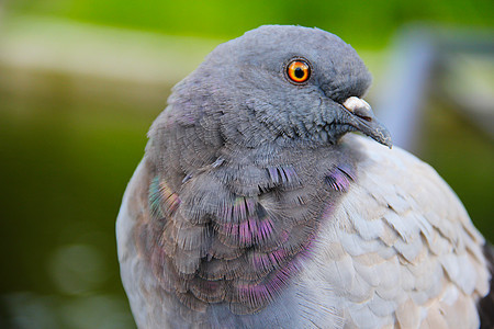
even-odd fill
[{"label": "dark grey neck feathers with purple and green iridescence", "polygon": [[256,151],[224,154],[180,188],[169,183],[176,172],[155,169],[150,261],[165,290],[193,310],[266,307],[311,256],[321,218],[355,180],[338,147]]}]

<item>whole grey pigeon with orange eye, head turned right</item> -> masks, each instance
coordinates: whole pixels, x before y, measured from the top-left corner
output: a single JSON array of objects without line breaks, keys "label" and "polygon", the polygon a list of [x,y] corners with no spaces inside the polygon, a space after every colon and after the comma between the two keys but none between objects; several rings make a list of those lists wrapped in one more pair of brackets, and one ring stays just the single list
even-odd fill
[{"label": "whole grey pigeon with orange eye, head turned right", "polygon": [[266,25],[173,87],[116,220],[138,328],[492,328],[492,249],[370,84],[338,36]]}]

